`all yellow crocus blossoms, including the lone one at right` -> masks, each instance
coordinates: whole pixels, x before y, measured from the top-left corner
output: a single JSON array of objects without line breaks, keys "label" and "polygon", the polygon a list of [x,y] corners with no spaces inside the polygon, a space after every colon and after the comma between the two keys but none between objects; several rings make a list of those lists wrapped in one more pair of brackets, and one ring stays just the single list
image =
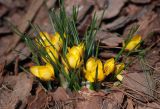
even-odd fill
[{"label": "all yellow crocus blossoms, including the lone one at right", "polygon": [[[110,58],[105,62],[102,62],[97,57],[91,56],[86,61],[85,57],[85,43],[81,42],[77,45],[73,45],[67,48],[65,57],[61,57],[61,51],[63,47],[63,41],[59,33],[48,34],[47,32],[40,32],[39,36],[41,40],[36,39],[37,46],[40,47],[38,42],[42,43],[45,51],[52,59],[52,61],[57,64],[59,61],[69,75],[70,70],[77,70],[81,68],[82,75],[90,83],[102,82],[108,75],[116,75],[119,81],[123,80],[122,71],[125,69],[125,64],[123,62],[116,62],[114,58]],[[64,38],[66,35],[64,34]],[[125,50],[132,51],[138,48],[138,44],[141,42],[142,38],[140,35],[135,35],[128,44],[123,44]],[[45,57],[41,57],[45,65],[32,66],[30,71],[33,75],[44,81],[54,80],[55,71],[54,67],[46,60]],[[76,72],[75,72],[76,73]]]}]

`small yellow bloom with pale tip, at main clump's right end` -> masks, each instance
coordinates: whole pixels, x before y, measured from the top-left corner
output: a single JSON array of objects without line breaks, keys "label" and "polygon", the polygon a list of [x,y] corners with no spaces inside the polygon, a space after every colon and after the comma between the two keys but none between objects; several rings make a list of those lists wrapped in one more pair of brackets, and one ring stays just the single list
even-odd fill
[{"label": "small yellow bloom with pale tip, at main clump's right end", "polygon": [[118,65],[116,65],[116,69],[115,69],[115,73],[117,74],[117,79],[122,81],[123,80],[123,76],[121,75],[121,72],[123,71],[125,67],[125,64],[124,63],[120,63]]}]

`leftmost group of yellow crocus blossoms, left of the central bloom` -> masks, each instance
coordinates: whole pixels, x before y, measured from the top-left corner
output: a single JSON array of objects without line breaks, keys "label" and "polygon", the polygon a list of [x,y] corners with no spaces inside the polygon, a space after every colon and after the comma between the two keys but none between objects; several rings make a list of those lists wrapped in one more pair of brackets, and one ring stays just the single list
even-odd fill
[{"label": "leftmost group of yellow crocus blossoms, left of the central bloom", "polygon": [[[42,39],[39,41],[45,47],[47,54],[50,56],[53,62],[56,63],[56,60],[59,57],[58,53],[62,49],[63,45],[63,41],[59,33],[49,35],[47,32],[40,32],[39,35]],[[37,39],[36,42],[37,45],[40,46]],[[44,81],[53,80],[55,78],[53,66],[50,63],[48,63],[48,61],[44,57],[42,57],[42,60],[46,63],[46,65],[30,67],[31,73]]]}]

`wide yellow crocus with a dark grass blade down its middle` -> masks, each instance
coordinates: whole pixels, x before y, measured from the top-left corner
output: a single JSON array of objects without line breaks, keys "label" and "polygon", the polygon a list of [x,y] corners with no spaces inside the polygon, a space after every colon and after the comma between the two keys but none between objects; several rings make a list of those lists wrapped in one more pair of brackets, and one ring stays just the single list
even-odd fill
[{"label": "wide yellow crocus with a dark grass blade down its middle", "polygon": [[[100,59],[91,57],[86,62],[86,69],[83,69],[86,80],[89,82],[102,81],[105,78],[103,65]],[[97,74],[97,75],[96,75]]]}]

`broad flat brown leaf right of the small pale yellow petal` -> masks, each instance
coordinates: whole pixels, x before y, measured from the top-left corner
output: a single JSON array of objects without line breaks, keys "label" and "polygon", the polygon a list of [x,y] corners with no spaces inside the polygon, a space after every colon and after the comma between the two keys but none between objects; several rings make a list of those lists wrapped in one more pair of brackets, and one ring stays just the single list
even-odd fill
[{"label": "broad flat brown leaf right of the small pale yellow petal", "polygon": [[149,76],[146,77],[144,73],[128,73],[124,75],[123,85],[126,89],[131,90],[130,93],[134,97],[141,101],[146,102],[146,100],[153,99],[153,80]]}]

